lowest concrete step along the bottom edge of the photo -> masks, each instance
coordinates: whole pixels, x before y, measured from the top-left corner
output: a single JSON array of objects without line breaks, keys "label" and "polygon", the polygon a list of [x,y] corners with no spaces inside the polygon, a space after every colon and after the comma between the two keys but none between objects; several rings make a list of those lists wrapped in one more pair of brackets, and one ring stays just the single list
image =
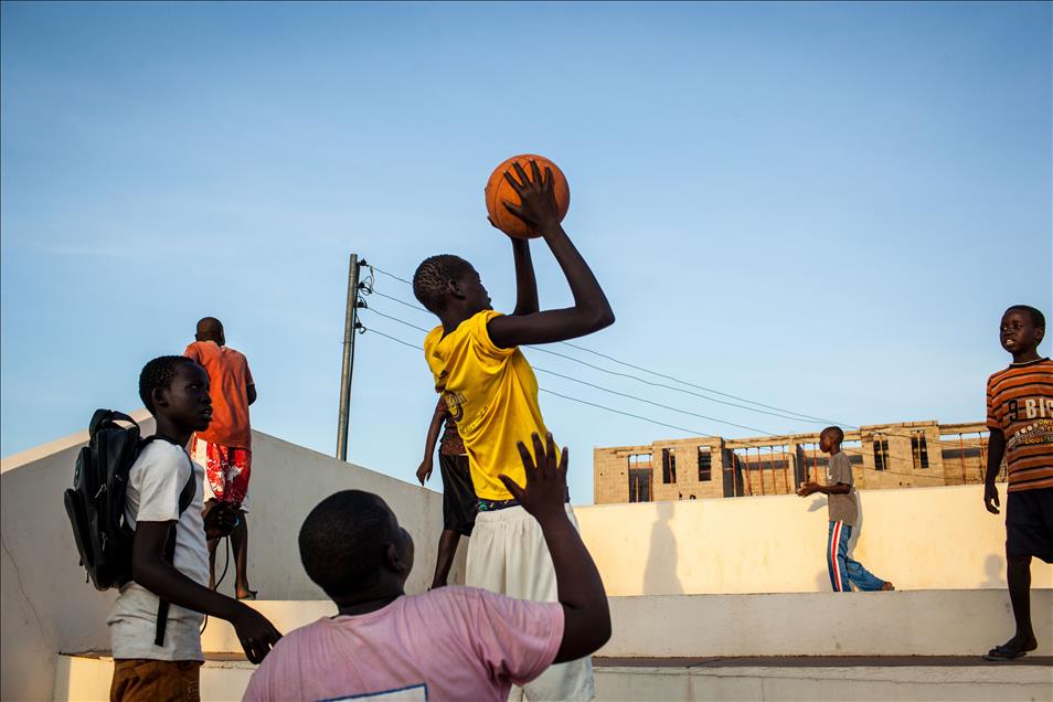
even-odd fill
[{"label": "lowest concrete step along the bottom edge of the photo", "polygon": [[[1053,658],[1003,664],[975,657],[594,659],[596,699],[645,700],[1050,700]],[[255,667],[243,657],[209,655],[201,699],[240,700]],[[105,700],[113,659],[60,656],[55,700]]]}]

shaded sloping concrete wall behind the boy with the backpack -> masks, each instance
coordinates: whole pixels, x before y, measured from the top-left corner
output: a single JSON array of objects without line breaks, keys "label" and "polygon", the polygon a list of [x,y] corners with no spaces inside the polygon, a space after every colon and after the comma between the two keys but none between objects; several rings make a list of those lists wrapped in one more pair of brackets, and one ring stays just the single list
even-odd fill
[{"label": "shaded sloping concrete wall behind the boy with the backpack", "polygon": [[[137,415],[143,432],[153,423]],[[2,664],[0,699],[50,699],[55,651],[108,649],[106,615],[115,592],[85,583],[62,492],[87,433],[53,442],[2,462]],[[254,433],[249,577],[268,599],[322,599],[300,567],[297,533],[307,512],[337,490],[381,494],[416,543],[410,592],[423,592],[435,570],[443,524],[442,494]],[[407,467],[407,477],[411,476]],[[222,570],[224,555],[217,557]],[[462,579],[464,544],[451,579]],[[233,565],[221,589],[231,594]],[[18,671],[17,673],[14,671]]]}]

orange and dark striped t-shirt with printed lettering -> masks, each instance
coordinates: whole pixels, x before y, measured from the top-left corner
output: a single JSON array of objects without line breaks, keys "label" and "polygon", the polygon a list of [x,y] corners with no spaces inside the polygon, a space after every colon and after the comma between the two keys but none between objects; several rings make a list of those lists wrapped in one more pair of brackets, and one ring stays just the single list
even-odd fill
[{"label": "orange and dark striped t-shirt with printed lettering", "polygon": [[1010,492],[1053,488],[1053,361],[1014,363],[991,375],[987,427],[1006,435]]}]

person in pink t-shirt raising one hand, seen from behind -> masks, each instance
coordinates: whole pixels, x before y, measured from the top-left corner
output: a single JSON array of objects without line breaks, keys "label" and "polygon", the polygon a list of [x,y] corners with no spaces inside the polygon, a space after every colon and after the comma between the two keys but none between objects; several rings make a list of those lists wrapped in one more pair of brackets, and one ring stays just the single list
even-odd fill
[{"label": "person in pink t-shirt raising one hand, seen from behind", "polygon": [[519,451],[526,486],[502,482],[541,525],[557,603],[472,587],[407,596],[413,540],[377,496],[344,490],[300,529],[307,574],[339,614],[287,634],[249,680],[245,700],[508,699],[552,663],[588,656],[610,637],[603,581],[564,509],[566,448],[534,434],[536,465]]}]

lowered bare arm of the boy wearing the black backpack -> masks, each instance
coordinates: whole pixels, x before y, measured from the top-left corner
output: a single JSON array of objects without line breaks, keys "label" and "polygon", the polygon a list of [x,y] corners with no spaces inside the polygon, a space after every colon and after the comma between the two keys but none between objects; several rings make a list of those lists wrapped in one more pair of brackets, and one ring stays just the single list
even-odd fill
[{"label": "lowered bare arm of the boy wearing the black backpack", "polygon": [[234,625],[245,655],[258,663],[281,638],[262,614],[236,599],[199,585],[164,560],[164,544],[176,522],[139,522],[131,541],[131,577],[173,605],[193,609]]}]

